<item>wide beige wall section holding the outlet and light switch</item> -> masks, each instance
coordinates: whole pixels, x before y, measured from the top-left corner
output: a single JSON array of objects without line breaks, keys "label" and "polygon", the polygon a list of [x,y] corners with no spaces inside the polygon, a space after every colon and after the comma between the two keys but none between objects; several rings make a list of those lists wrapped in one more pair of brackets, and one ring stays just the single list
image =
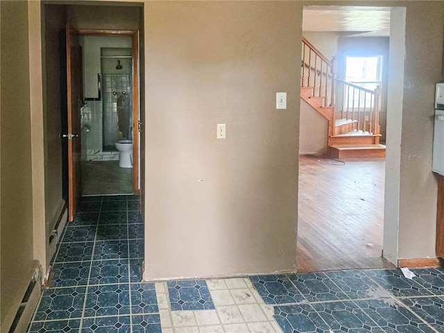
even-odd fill
[{"label": "wide beige wall section holding the outlet and light switch", "polygon": [[145,3],[146,279],[295,271],[301,19],[296,2]]}]

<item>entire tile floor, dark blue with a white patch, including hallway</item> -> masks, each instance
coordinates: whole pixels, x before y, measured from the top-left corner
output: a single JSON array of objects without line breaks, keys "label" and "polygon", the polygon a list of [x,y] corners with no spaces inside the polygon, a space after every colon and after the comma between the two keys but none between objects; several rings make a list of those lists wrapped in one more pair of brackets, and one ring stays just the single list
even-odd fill
[{"label": "entire tile floor, dark blue with a white patch, including hallway", "polygon": [[138,200],[81,198],[29,333],[444,333],[443,268],[141,283]]}]

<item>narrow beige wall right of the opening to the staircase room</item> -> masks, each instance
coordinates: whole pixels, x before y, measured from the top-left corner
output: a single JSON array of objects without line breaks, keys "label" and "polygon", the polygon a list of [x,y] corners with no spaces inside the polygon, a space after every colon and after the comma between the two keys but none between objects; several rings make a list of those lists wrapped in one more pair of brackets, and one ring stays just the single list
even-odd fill
[{"label": "narrow beige wall right of the opening to the staircase room", "polygon": [[[437,185],[431,169],[435,83],[443,80],[443,26],[443,1],[407,3],[399,258],[435,256]],[[420,61],[425,50],[427,61]]]}]

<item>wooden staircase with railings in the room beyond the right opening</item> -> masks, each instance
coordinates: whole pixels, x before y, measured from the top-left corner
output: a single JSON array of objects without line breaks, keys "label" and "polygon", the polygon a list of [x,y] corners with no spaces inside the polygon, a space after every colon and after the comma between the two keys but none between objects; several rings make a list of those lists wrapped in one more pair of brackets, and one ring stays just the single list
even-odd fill
[{"label": "wooden staircase with railings in the room beyond the right opening", "polygon": [[330,157],[385,157],[379,144],[381,89],[336,79],[336,58],[328,60],[304,37],[300,98],[327,119]]}]

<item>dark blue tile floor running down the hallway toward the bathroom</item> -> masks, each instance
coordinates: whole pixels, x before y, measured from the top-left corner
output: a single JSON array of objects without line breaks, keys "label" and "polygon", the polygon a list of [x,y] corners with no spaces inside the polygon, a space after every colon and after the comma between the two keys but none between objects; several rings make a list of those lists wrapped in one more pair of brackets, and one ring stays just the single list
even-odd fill
[{"label": "dark blue tile floor running down the hallway toward the bathroom", "polygon": [[140,283],[144,225],[138,207],[138,196],[80,199],[28,332],[161,332],[154,284]]}]

